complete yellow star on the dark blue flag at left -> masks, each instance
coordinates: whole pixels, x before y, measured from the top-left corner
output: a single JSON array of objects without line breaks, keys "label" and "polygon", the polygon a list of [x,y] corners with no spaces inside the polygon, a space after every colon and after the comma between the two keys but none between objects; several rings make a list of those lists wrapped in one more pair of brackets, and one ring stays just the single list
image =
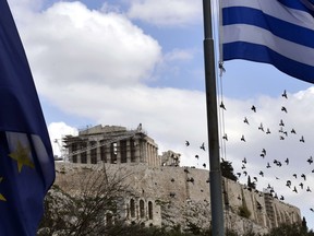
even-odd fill
[{"label": "complete yellow star on the dark blue flag at left", "polygon": [[23,165],[34,168],[34,163],[29,160],[29,149],[23,146],[20,141],[17,141],[16,150],[9,154],[9,156],[17,162],[19,173],[21,173]]}]

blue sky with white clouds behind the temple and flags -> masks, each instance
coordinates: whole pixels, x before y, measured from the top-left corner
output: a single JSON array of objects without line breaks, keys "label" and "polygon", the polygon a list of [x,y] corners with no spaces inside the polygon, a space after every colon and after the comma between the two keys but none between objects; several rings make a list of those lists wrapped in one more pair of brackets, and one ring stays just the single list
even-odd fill
[{"label": "blue sky with white clouds behind the temple and flags", "polygon": [[[181,153],[182,166],[204,168],[205,163],[208,168],[201,0],[8,2],[55,154],[60,155],[65,134],[96,125],[135,129],[142,123],[159,154],[172,150]],[[215,42],[218,45],[217,33]],[[226,72],[217,78],[218,101],[226,106],[226,110],[219,108],[219,130],[228,137],[220,142],[221,157],[241,173],[240,182],[246,182],[246,172],[257,177],[258,190],[271,185],[285,202],[300,208],[307,226],[314,228],[310,211],[314,209],[314,164],[306,162],[314,156],[314,87],[269,64],[232,60],[224,67]],[[285,90],[288,98],[281,95]],[[245,117],[250,125],[243,122]],[[280,120],[285,126],[279,126]],[[281,128],[287,135],[279,132]],[[302,135],[304,142],[300,142]],[[200,149],[203,142],[205,152]],[[263,149],[267,151],[264,158]],[[270,168],[266,168],[268,162]],[[291,189],[286,186],[288,179]],[[292,191],[294,186],[298,193]],[[313,192],[305,190],[307,186]]]}]

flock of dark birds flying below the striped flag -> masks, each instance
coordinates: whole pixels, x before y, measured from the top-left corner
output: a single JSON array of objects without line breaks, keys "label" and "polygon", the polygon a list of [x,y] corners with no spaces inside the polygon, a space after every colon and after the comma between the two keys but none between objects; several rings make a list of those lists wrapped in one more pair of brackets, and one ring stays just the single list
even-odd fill
[{"label": "flock of dark birds flying below the striped flag", "polygon": [[[283,93],[281,94],[281,97],[282,99],[288,99],[288,94],[286,92],[286,90],[283,91]],[[219,105],[220,109],[222,109],[224,111],[227,110],[225,104],[221,102],[221,104]],[[247,108],[249,109],[249,108]],[[280,107],[280,111],[282,114],[288,114],[288,108],[286,105],[281,106]],[[266,127],[264,125],[264,122],[258,122],[258,126],[256,127],[256,119],[252,119],[252,123],[250,122],[250,117],[252,118],[252,115],[254,116],[254,114],[258,114],[258,107],[256,107],[255,105],[252,105],[251,106],[251,115],[249,116],[244,116],[243,117],[243,123],[247,127],[253,127],[255,128],[256,130],[258,130],[258,132],[263,132],[265,133],[266,135],[270,135],[271,133],[278,135],[278,139],[279,141],[285,141],[287,140],[289,137],[291,135],[294,135],[294,140],[297,140],[298,142],[304,144],[305,143],[305,139],[304,139],[304,135],[300,134],[298,132],[298,130],[294,128],[294,127],[289,127],[289,123],[285,121],[285,118],[281,118],[279,119],[278,121],[278,129],[275,130],[274,127],[270,129],[269,127]],[[287,115],[286,115],[287,116]],[[285,117],[285,115],[282,115],[282,117]],[[256,117],[255,117],[256,118]],[[254,127],[255,126],[255,127]],[[249,138],[249,137],[247,137]],[[228,142],[228,134],[227,133],[224,133],[222,137],[222,142],[226,144],[226,142]],[[241,137],[239,137],[239,142],[242,142],[242,143],[249,143],[249,140],[246,140],[246,135],[245,133],[241,134]],[[263,144],[263,143],[261,143]],[[185,145],[186,146],[190,146],[190,142],[189,141],[185,141]],[[203,142],[201,145],[200,145],[200,149],[203,150],[203,151],[206,151],[205,150],[205,143]],[[241,145],[241,148],[239,149],[243,149],[245,150],[245,146],[243,148]],[[297,148],[295,148],[297,149]],[[291,156],[291,161],[289,157],[285,157],[285,158],[274,158],[271,157],[273,154],[270,154],[268,156],[268,150],[266,150],[265,148],[262,148],[261,149],[261,152],[259,152],[259,160],[258,163],[263,162],[265,165],[264,167],[261,167],[259,170],[256,172],[256,168],[253,170],[253,172],[250,172],[250,163],[252,164],[255,164],[256,163],[256,156],[251,157],[251,158],[246,158],[246,157],[243,157],[241,160],[241,163],[238,163],[237,166],[240,166],[239,169],[235,170],[235,175],[238,177],[238,179],[242,179],[242,180],[246,180],[249,181],[249,178],[250,178],[250,181],[251,179],[253,179],[253,184],[256,186],[258,180],[261,178],[264,178],[264,179],[267,179],[266,181],[262,181],[263,184],[262,185],[265,185],[265,182],[271,182],[271,184],[266,184],[266,186],[263,187],[263,191],[267,191],[268,193],[270,193],[274,198],[277,198],[281,201],[285,200],[285,196],[277,192],[275,190],[275,186],[277,185],[276,184],[276,180],[280,180],[280,184],[285,184],[286,188],[290,189],[292,192],[294,193],[300,193],[302,191],[304,192],[312,192],[312,189],[310,187],[310,181],[309,181],[309,176],[314,175],[314,164],[313,164],[313,157],[312,156],[309,156],[309,157],[305,157],[305,158],[300,158],[300,156]],[[200,158],[198,155],[195,155],[195,158]],[[224,161],[224,158],[221,158]],[[293,163],[294,162],[294,163]],[[293,165],[297,163],[298,165],[302,165],[302,162],[304,162],[304,165],[307,165],[309,167],[311,167],[310,169],[312,169],[311,172],[307,172],[305,173],[305,169],[309,169],[309,167],[306,168],[302,168],[304,170],[301,170],[301,172],[295,172],[295,173],[291,173],[290,177],[287,178],[287,175],[286,177],[283,177],[285,179],[282,179],[280,176],[276,176],[276,175],[279,175],[280,172],[285,172],[285,174],[287,174],[288,172],[292,170],[293,169]],[[258,165],[259,166],[259,165]],[[281,168],[285,168],[285,167],[289,167],[291,166],[291,168],[287,168],[287,170],[274,170],[274,173],[276,175],[274,175],[274,173],[270,175],[269,174],[269,169],[270,168],[277,168],[277,167],[281,167]],[[313,167],[312,167],[313,166]],[[206,164],[204,163],[203,164],[203,167],[206,168]],[[294,169],[295,170],[295,169]],[[275,177],[275,179],[273,180],[273,178]],[[247,186],[246,186],[247,187]],[[277,185],[278,187],[278,185]],[[281,191],[282,191],[282,188],[280,188]],[[249,190],[252,190],[251,188],[249,188]],[[314,212],[314,208],[310,208],[310,210],[312,212]]]}]

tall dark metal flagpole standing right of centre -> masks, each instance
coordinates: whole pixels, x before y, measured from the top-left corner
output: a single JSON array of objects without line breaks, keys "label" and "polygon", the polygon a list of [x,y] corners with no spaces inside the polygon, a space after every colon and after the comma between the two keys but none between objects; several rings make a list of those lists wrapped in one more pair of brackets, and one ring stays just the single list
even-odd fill
[{"label": "tall dark metal flagpole standing right of centre", "polygon": [[203,0],[204,63],[206,84],[207,132],[209,141],[209,185],[212,206],[212,235],[225,236],[221,172],[219,158],[219,133],[216,93],[216,61],[212,27],[210,0]]}]

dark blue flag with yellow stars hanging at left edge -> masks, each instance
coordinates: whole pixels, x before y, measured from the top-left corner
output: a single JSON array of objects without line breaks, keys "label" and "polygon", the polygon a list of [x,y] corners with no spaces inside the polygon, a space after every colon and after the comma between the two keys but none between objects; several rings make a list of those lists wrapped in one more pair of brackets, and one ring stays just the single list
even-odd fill
[{"label": "dark blue flag with yellow stars hanging at left edge", "polygon": [[33,236],[55,180],[55,162],[7,0],[0,0],[0,236]]}]

